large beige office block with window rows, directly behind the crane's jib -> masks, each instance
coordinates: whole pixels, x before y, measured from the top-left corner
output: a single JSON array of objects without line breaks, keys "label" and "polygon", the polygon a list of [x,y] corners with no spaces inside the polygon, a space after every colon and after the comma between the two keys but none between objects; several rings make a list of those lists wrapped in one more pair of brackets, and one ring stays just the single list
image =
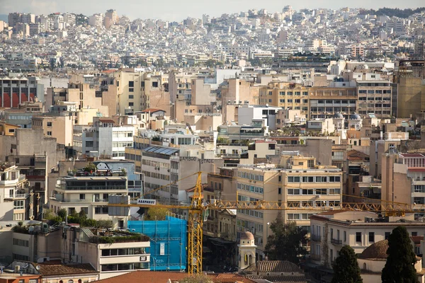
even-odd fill
[{"label": "large beige office block with window rows, directly behind the crane's jib", "polygon": [[[286,202],[290,207],[304,207],[302,211],[282,212],[283,220],[296,221],[310,232],[310,216],[314,211],[305,207],[339,207],[341,204],[342,174],[333,166],[317,166],[313,157],[281,156],[279,166],[246,165],[237,168],[237,196],[247,202]],[[244,231],[254,234],[256,253],[263,258],[267,244],[268,224],[278,212],[244,209],[237,214],[238,236]],[[258,257],[257,257],[258,258]]]}]

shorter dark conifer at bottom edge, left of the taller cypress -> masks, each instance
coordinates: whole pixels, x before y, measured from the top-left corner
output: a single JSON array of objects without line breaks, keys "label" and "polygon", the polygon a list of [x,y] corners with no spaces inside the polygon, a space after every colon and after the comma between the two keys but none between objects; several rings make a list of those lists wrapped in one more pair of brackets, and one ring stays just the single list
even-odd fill
[{"label": "shorter dark conifer at bottom edge, left of the taller cypress", "polygon": [[342,247],[334,263],[334,277],[332,277],[331,283],[362,282],[356,253],[350,246]]}]

